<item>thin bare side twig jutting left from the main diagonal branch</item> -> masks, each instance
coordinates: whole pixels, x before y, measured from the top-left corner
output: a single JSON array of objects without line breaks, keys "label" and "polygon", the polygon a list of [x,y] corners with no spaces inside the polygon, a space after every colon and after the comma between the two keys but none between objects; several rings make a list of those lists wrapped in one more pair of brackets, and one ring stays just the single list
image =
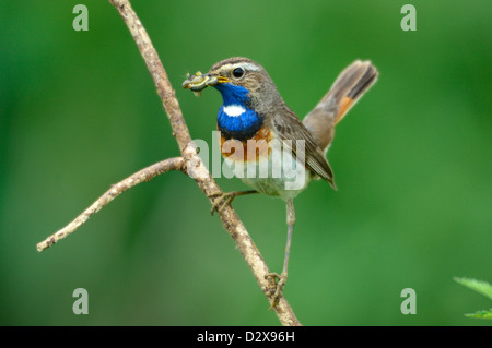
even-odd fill
[{"label": "thin bare side twig jutting left from the main diagonal branch", "polygon": [[74,232],[81,225],[83,225],[91,216],[105,207],[109,202],[116,199],[118,195],[125,191],[131,189],[132,187],[150,181],[159,175],[167,172],[169,170],[184,170],[185,160],[183,157],[174,157],[156,163],[152,166],[143,168],[137,171],[125,180],[113,184],[109,190],[107,190],[101,197],[97,199],[89,208],[86,208],[81,215],[79,215],[74,220],[68,224],[62,229],[58,230],[56,233],[46,238],[44,241],[37,243],[37,251],[43,251],[48,249],[60,239],[66,238],[68,235]]}]

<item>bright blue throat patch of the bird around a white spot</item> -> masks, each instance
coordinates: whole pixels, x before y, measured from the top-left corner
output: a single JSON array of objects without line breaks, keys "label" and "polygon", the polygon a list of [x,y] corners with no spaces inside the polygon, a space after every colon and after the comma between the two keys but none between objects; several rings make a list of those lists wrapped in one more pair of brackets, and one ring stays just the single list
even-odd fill
[{"label": "bright blue throat patch of the bird around a white spot", "polygon": [[[223,105],[219,109],[216,122],[222,136],[225,139],[248,140],[261,128],[262,117],[251,110],[249,105],[249,92],[245,87],[231,83],[222,83],[214,86],[222,95]],[[225,107],[237,106],[244,108],[244,112],[230,116],[224,111]]]}]

